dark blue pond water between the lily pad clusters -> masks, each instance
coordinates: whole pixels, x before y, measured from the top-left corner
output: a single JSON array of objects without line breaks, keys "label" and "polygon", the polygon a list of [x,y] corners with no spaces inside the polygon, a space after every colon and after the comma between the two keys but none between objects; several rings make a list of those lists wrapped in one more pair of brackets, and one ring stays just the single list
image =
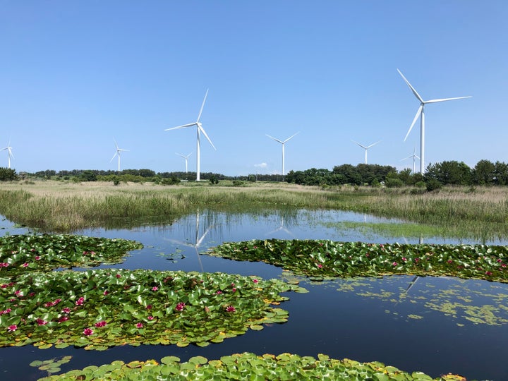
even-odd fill
[{"label": "dark blue pond water between the lily pad clusters", "polygon": [[[353,224],[348,224],[353,222]],[[73,356],[63,372],[114,360],[134,361],[178,356],[219,358],[231,353],[284,352],[356,361],[380,361],[406,372],[432,377],[446,373],[471,379],[508,380],[504,365],[508,350],[508,284],[449,277],[394,276],[311,282],[262,262],[235,262],[204,253],[226,241],[260,238],[332,239],[371,243],[481,243],[439,236],[394,236],[370,229],[397,220],[351,212],[294,210],[229,214],[197,210],[171,224],[129,229],[90,229],[76,234],[127,238],[145,248],[130,253],[125,269],[228,272],[264,279],[299,280],[308,294],[288,293],[281,308],[289,321],[261,331],[199,346],[121,346],[107,351],[37,349],[33,346],[0,349],[2,380],[37,380],[47,373],[30,367],[34,360]],[[129,222],[130,226],[135,223]],[[358,226],[362,226],[358,229]],[[347,228],[346,226],[356,226]],[[28,229],[4,220],[4,234]],[[393,230],[390,230],[393,234]],[[488,242],[507,245],[505,241]],[[79,269],[76,269],[79,270]]]}]

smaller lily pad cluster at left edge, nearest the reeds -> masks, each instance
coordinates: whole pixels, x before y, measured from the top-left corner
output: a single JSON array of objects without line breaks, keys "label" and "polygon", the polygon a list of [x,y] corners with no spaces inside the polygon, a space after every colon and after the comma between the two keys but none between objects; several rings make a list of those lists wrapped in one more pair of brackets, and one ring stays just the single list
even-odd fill
[{"label": "smaller lily pad cluster at left edge, nearest the reeds", "polygon": [[141,243],[121,238],[7,235],[0,237],[0,276],[121,263],[128,251],[140,248]]}]

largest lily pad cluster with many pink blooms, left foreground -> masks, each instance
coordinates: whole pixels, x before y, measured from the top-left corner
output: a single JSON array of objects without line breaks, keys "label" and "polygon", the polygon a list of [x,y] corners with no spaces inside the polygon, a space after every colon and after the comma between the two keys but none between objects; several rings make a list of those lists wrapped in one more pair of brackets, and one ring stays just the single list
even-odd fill
[{"label": "largest lily pad cluster with many pink blooms, left foreground", "polygon": [[122,344],[206,346],[286,322],[270,305],[303,291],[234,274],[87,270],[0,277],[0,346],[107,349]]}]

